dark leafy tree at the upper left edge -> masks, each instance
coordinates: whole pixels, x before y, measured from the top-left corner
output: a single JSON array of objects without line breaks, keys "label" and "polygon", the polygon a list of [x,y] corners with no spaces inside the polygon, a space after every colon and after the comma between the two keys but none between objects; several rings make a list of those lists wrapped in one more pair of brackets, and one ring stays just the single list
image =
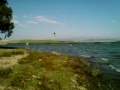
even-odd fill
[{"label": "dark leafy tree at the upper left edge", "polygon": [[12,8],[8,6],[7,0],[0,0],[0,34],[4,34],[5,38],[10,37],[13,28]]}]

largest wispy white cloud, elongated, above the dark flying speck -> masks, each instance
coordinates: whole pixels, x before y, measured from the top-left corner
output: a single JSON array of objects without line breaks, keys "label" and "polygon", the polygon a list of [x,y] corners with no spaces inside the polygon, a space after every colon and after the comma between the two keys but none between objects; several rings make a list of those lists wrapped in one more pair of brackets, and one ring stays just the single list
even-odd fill
[{"label": "largest wispy white cloud, elongated, above the dark flying speck", "polygon": [[46,18],[44,16],[37,16],[35,17],[37,19],[37,21],[39,22],[44,22],[44,23],[49,23],[49,24],[59,24],[58,21],[56,20],[53,20],[53,19],[49,19],[49,18]]}]

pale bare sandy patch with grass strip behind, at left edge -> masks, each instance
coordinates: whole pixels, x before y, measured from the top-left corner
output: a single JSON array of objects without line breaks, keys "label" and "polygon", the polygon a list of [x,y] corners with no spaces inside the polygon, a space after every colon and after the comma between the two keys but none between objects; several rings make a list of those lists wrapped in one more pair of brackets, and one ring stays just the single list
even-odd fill
[{"label": "pale bare sandy patch with grass strip behind, at left edge", "polygon": [[22,49],[0,49],[0,68],[11,67],[26,56],[27,52]]}]

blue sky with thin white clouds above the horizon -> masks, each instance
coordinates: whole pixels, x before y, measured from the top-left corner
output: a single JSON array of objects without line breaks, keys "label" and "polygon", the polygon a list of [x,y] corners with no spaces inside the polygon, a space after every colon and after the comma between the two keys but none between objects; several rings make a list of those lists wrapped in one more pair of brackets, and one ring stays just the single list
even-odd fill
[{"label": "blue sky with thin white clouds above the horizon", "polygon": [[8,3],[15,23],[8,39],[120,39],[120,0],[8,0]]}]

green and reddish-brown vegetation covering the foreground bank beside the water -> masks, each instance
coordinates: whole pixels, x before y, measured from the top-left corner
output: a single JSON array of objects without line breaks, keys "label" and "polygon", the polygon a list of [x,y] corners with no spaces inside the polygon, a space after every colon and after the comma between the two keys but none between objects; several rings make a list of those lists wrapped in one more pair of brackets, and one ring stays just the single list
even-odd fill
[{"label": "green and reddish-brown vegetation covering the foreground bank beside the water", "polygon": [[23,52],[27,56],[18,64],[0,68],[0,86],[5,90],[112,90],[99,70],[91,70],[88,62],[77,57]]}]

